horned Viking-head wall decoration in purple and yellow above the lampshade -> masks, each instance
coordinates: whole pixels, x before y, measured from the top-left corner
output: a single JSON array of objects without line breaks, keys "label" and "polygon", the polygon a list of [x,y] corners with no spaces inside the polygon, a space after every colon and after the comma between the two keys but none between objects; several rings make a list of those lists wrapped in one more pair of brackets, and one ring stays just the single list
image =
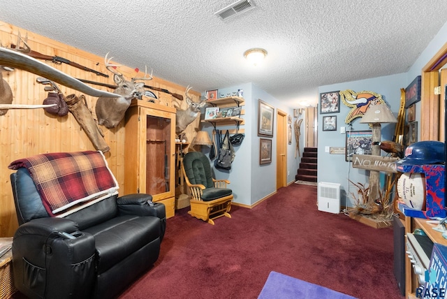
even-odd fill
[{"label": "horned Viking-head wall decoration in purple and yellow above the lampshade", "polygon": [[381,94],[375,92],[353,92],[351,89],[346,89],[340,92],[340,97],[344,105],[352,108],[344,119],[346,124],[351,124],[356,117],[362,117],[369,106],[385,103]]}]

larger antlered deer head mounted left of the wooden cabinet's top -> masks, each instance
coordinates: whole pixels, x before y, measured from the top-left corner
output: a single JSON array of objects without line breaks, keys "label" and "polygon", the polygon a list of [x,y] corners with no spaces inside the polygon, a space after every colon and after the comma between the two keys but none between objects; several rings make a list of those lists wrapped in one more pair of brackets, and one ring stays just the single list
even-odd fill
[{"label": "larger antlered deer head mounted left of the wooden cabinet's top", "polygon": [[98,124],[105,126],[108,129],[115,128],[121,122],[126,113],[127,108],[131,105],[132,99],[138,98],[138,94],[142,92],[144,83],[135,82],[136,80],[152,80],[152,73],[149,78],[145,76],[142,78],[132,78],[131,81],[124,79],[122,73],[117,72],[113,67],[119,66],[116,64],[110,64],[110,59],[107,58],[108,53],[105,55],[105,67],[112,72],[113,80],[118,85],[114,94],[119,94],[118,98],[100,97],[96,101],[96,117],[98,117]]}]

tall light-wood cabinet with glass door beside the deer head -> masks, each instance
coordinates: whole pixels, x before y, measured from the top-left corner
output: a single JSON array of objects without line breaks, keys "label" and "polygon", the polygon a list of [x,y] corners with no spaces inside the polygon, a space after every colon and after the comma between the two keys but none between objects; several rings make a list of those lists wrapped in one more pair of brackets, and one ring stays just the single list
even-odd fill
[{"label": "tall light-wood cabinet with glass door beside the deer head", "polygon": [[126,111],[124,194],[146,193],[175,212],[175,108],[133,100]]}]

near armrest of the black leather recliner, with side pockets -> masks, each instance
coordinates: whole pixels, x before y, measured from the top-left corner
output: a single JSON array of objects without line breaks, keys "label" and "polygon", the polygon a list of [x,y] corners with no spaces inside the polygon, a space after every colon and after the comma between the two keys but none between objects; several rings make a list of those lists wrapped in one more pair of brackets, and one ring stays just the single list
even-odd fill
[{"label": "near armrest of the black leather recliner, with side pockets", "polygon": [[[13,238],[14,284],[29,298],[91,298],[95,282],[95,239],[63,218],[33,219]],[[73,235],[61,237],[57,232]],[[80,274],[82,273],[82,274]]]}]

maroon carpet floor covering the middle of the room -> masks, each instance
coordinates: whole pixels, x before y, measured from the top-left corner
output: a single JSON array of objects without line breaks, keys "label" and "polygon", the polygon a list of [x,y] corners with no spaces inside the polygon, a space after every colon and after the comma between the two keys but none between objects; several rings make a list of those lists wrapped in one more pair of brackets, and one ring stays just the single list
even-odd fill
[{"label": "maroon carpet floor covering the middle of the room", "polygon": [[257,298],[270,271],[357,298],[404,298],[393,230],[317,210],[316,187],[291,184],[215,225],[177,210],[159,260],[119,298]]}]

